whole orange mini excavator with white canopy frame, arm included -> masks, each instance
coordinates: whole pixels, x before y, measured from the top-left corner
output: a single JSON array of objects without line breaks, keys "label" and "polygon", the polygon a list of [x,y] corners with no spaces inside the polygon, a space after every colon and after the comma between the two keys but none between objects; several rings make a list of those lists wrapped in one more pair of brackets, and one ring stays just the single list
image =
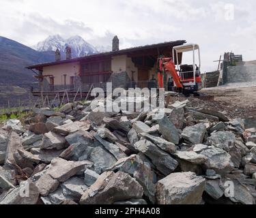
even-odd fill
[{"label": "whole orange mini excavator with white canopy frame, arm included", "polygon": [[[193,64],[184,65],[182,54],[184,52],[193,52]],[[195,52],[198,51],[199,66],[195,61]],[[173,61],[175,59],[175,61]],[[173,78],[175,91],[182,93],[195,93],[201,89],[201,59],[200,49],[197,44],[185,44],[182,46],[173,47],[173,58],[160,57],[158,58],[158,87],[164,88],[164,76],[169,74]]]}]

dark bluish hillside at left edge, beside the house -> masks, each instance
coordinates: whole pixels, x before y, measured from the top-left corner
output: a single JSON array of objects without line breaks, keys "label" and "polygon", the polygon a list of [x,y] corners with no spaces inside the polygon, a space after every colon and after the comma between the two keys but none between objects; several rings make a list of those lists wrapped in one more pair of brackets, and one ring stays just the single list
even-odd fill
[{"label": "dark bluish hillside at left edge, beside the house", "polygon": [[[33,82],[33,72],[25,69],[27,65],[54,60],[54,52],[38,52],[0,36],[0,108],[12,105],[17,100],[27,99],[27,91]],[[22,90],[22,91],[17,91]]]}]

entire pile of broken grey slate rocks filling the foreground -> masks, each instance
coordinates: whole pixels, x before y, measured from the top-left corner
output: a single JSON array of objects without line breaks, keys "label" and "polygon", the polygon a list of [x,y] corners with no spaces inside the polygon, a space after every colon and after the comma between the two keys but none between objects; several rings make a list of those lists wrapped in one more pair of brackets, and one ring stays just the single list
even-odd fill
[{"label": "entire pile of broken grey slate rocks filling the foreground", "polygon": [[256,128],[246,119],[188,100],[161,119],[92,109],[75,102],[5,123],[0,204],[255,204]]}]

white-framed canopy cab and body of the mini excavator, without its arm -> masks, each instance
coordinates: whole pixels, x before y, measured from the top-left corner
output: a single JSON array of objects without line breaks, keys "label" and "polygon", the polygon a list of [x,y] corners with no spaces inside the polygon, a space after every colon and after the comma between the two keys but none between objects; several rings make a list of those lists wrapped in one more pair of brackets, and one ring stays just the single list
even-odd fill
[{"label": "white-framed canopy cab and body of the mini excavator, without its arm", "polygon": [[[192,64],[182,64],[185,52],[193,53]],[[198,63],[196,63],[196,55],[198,55]],[[175,69],[180,76],[180,82],[183,86],[184,93],[193,93],[201,89],[201,59],[200,48],[197,44],[185,44],[173,47],[173,63]],[[198,64],[198,65],[197,65]]]}]

